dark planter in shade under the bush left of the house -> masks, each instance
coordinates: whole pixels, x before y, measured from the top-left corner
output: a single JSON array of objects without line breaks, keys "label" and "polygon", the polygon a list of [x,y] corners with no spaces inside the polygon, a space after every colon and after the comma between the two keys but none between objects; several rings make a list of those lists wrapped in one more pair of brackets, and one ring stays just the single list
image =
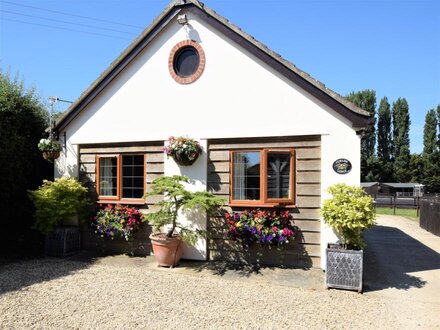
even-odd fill
[{"label": "dark planter in shade under the bush left of the house", "polygon": [[45,254],[50,257],[68,257],[81,251],[81,232],[77,226],[59,226],[46,236]]}]

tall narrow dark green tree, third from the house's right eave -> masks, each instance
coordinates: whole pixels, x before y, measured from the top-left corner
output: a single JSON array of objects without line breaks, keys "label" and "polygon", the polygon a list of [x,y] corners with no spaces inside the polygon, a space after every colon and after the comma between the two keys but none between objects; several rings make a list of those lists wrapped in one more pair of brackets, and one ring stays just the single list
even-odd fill
[{"label": "tall narrow dark green tree, third from the house's right eave", "polygon": [[408,182],[410,175],[410,149],[409,149],[409,106],[405,98],[398,98],[393,103],[393,156],[394,178],[398,182]]}]

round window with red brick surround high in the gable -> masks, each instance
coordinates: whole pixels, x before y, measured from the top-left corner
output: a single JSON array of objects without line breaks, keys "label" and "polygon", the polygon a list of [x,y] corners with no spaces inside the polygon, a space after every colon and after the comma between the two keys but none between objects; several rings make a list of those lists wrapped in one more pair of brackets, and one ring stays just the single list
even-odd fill
[{"label": "round window with red brick surround high in the gable", "polygon": [[205,53],[195,41],[184,40],[171,50],[168,60],[171,77],[179,84],[196,81],[205,68]]}]

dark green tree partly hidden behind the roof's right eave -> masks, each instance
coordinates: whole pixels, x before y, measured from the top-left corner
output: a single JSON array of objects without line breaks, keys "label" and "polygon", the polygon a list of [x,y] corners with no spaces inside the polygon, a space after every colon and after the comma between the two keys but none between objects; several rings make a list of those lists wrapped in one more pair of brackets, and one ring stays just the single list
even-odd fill
[{"label": "dark green tree partly hidden behind the roof's right eave", "polygon": [[346,96],[346,99],[368,111],[374,118],[374,123],[368,126],[361,141],[361,181],[365,181],[370,172],[368,160],[374,157],[376,147],[376,92],[369,89],[351,92]]}]

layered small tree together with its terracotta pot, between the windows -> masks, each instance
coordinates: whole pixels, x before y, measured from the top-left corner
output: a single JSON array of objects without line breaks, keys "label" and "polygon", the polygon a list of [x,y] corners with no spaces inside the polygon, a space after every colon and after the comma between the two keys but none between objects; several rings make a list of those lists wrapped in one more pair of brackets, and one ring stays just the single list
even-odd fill
[{"label": "layered small tree together with its terracotta pot, between the windows", "polygon": [[[182,257],[182,241],[194,244],[197,237],[206,236],[206,231],[185,226],[179,222],[179,213],[190,210],[204,210],[207,215],[215,212],[225,200],[207,191],[190,192],[184,187],[186,176],[159,177],[151,184],[151,192],[144,197],[163,195],[157,212],[145,214],[155,233],[150,235],[153,252],[159,266],[174,267]],[[166,229],[165,232],[161,232]]]}]

